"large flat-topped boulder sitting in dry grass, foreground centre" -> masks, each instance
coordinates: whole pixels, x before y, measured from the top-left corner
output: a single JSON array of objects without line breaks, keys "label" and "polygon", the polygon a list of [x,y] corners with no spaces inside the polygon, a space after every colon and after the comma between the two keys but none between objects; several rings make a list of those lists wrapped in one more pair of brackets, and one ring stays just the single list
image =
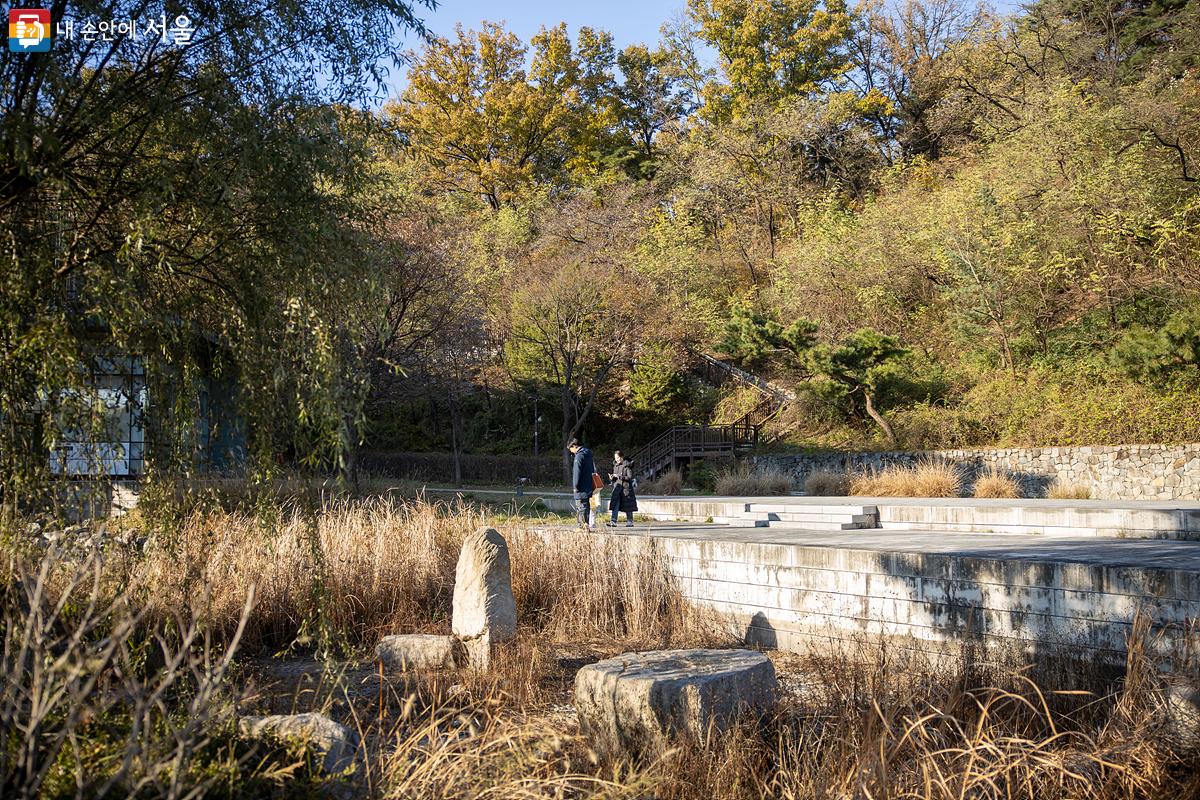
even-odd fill
[{"label": "large flat-topped boulder sitting in dry grass, foreground centre", "polygon": [[655,650],[588,664],[575,675],[575,710],[607,757],[648,757],[674,739],[698,740],[739,716],[770,711],[775,668],[754,650]]}]

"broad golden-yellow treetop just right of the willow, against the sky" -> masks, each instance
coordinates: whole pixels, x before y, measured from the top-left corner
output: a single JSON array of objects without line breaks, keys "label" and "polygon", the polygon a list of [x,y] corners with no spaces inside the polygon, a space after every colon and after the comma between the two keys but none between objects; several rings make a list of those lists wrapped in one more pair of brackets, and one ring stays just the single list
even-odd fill
[{"label": "broad golden-yellow treetop just right of the willow, against the sky", "polygon": [[619,150],[606,32],[582,28],[572,48],[559,24],[527,48],[497,23],[460,25],[452,41],[434,38],[413,58],[408,88],[385,115],[436,191],[499,209],[604,172]]}]

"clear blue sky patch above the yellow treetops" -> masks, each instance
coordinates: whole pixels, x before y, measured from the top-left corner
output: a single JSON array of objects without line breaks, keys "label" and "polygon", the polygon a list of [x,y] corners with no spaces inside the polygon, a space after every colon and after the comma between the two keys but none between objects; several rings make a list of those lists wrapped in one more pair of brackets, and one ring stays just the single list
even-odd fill
[{"label": "clear blue sky patch above the yellow treetops", "polygon": [[[545,25],[565,22],[575,41],[582,25],[599,28],[612,34],[613,44],[622,49],[626,44],[655,44],[659,28],[680,12],[686,0],[509,0],[508,2],[484,2],[482,0],[445,0],[437,11],[418,8],[418,17],[439,36],[452,36],[455,23],[463,28],[479,29],[481,20],[503,22],[505,28],[522,42]],[[404,37],[406,49],[419,49],[420,40],[409,34]],[[394,74],[389,85],[395,95],[404,85],[403,74]]]}]

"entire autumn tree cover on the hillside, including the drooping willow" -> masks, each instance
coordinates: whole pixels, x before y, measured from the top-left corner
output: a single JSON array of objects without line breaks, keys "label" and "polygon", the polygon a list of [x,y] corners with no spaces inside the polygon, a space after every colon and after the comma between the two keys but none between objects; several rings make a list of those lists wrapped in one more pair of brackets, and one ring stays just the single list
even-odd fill
[{"label": "entire autumn tree cover on the hillside, including the drooping willow", "polygon": [[688,0],[624,49],[211,5],[301,43],[4,62],[5,409],[103,320],[172,419],[235,374],[259,465],[636,447],[760,402],[703,355],[794,393],[775,447],[1200,440],[1196,0]]}]

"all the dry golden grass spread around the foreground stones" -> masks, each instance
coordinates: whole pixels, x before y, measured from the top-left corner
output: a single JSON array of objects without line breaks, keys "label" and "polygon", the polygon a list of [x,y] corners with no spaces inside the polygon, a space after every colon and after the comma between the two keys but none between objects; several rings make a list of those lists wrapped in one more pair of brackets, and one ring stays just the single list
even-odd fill
[{"label": "all the dry golden grass spread around the foreground stones", "polygon": [[[106,555],[103,569],[110,573],[101,573],[98,560],[89,561],[94,571],[74,579],[78,596],[59,608],[54,625],[42,626],[53,636],[36,645],[41,648],[36,658],[68,654],[66,663],[74,666],[62,673],[76,681],[70,691],[58,704],[44,705],[49,723],[41,728],[42,741],[54,735],[67,742],[60,747],[66,754],[56,757],[48,771],[68,778],[74,769],[94,769],[88,775],[104,780],[130,747],[132,769],[120,774],[112,794],[131,794],[133,783],[146,775],[144,765],[154,768],[161,763],[157,759],[176,753],[186,776],[220,776],[223,796],[239,792],[283,796],[296,786],[299,765],[250,757],[247,751],[234,757],[228,742],[218,748],[229,753],[223,760],[204,760],[212,757],[212,733],[229,728],[228,698],[240,698],[242,678],[228,664],[250,587],[258,587],[257,602],[245,616],[245,636],[252,644],[277,646],[310,637],[316,645],[322,637],[342,637],[347,646],[368,646],[384,632],[443,631],[457,543],[485,522],[470,509],[383,501],[331,504],[317,515],[288,510],[266,521],[198,512],[160,534],[145,554]],[[1150,632],[1145,618],[1134,625],[1129,666],[1117,682],[1070,654],[1049,651],[1033,669],[982,663],[968,648],[958,658],[937,660],[874,644],[858,651],[778,655],[786,691],[770,718],[688,742],[650,763],[599,760],[578,735],[568,708],[577,666],[628,649],[708,644],[706,637],[720,636],[712,620],[683,603],[653,541],[587,534],[546,537],[520,524],[505,527],[504,533],[521,618],[517,639],[498,654],[492,673],[426,673],[390,682],[380,675],[377,696],[360,691],[361,675],[353,680],[335,675],[329,691],[298,696],[298,710],[323,710],[360,732],[366,744],[358,796],[1200,796],[1200,754],[1172,748],[1162,733],[1163,679],[1144,655]],[[635,541],[641,543],[634,546]],[[14,645],[5,654],[20,652],[17,644],[28,627],[22,615],[31,604],[55,608],[54,591],[37,589],[44,560],[23,564],[0,583],[5,636]],[[61,591],[62,582],[55,585]],[[128,591],[106,599],[106,593],[125,585]],[[92,587],[98,597],[94,607],[88,602]],[[30,597],[40,591],[41,600],[34,603]],[[109,613],[114,602],[126,616]],[[127,615],[130,609],[136,609],[134,618]],[[126,625],[122,619],[131,621]],[[152,657],[142,673],[131,660],[144,648],[133,646],[138,639],[122,632],[139,626],[164,642],[180,642],[181,631],[228,631],[228,636],[204,639],[185,633],[184,639],[192,636],[197,646],[160,648],[168,661],[191,652],[184,656],[182,670],[163,670],[161,658]],[[79,631],[78,638],[73,631]],[[114,634],[128,646],[96,649]],[[96,660],[106,652],[124,655]],[[582,656],[564,658],[564,652]],[[1024,654],[1014,651],[1010,657]],[[35,674],[20,668],[26,661],[20,656],[4,663],[0,710],[30,708],[19,699]],[[60,680],[53,670],[36,674],[40,680]],[[91,675],[97,682],[88,682]],[[134,682],[121,675],[133,676]],[[154,694],[160,684],[145,682],[148,675],[173,675],[170,680],[188,688],[167,687]],[[137,681],[143,681],[140,688]],[[203,702],[194,700],[197,686],[218,685],[228,694],[204,688]],[[86,721],[95,718],[90,715],[104,710],[97,703],[112,706],[130,697],[150,697],[138,694],[146,688],[160,703],[155,709],[172,711],[157,714],[154,736],[130,728],[128,736],[109,742],[97,726],[89,727]],[[301,702],[307,705],[300,708]],[[188,723],[193,717],[200,722]],[[12,728],[7,717],[0,721],[6,729],[24,729]],[[74,722],[64,728],[59,721]],[[173,730],[163,727],[168,721],[190,727],[175,728],[182,738],[174,739]],[[102,727],[113,724],[106,720]],[[138,750],[143,740],[157,742],[145,750],[144,762]],[[19,740],[0,747],[12,741]],[[71,753],[90,760],[77,762]],[[40,757],[35,753],[35,760]],[[0,768],[6,763],[13,762],[0,760]],[[8,781],[6,787],[18,786],[10,772],[0,777]],[[256,781],[251,792],[247,787]],[[181,786],[194,784],[190,778]],[[58,788],[74,792],[68,780]],[[145,792],[152,789],[148,784]],[[32,793],[13,796],[24,794]]]}]

